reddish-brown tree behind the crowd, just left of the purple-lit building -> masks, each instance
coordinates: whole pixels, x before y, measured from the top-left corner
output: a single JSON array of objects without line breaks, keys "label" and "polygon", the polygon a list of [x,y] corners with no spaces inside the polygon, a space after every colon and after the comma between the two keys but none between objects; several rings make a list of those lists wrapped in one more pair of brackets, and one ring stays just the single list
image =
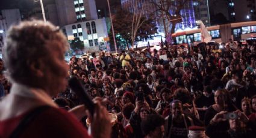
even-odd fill
[{"label": "reddish-brown tree behind the crowd, just left of the purple-lit building", "polygon": [[122,8],[116,10],[116,13],[113,14],[113,26],[117,43],[125,43],[126,46],[130,43],[131,46],[134,46],[137,41],[148,40],[157,33],[155,20],[151,16],[146,17],[143,13],[145,10],[138,11],[134,7],[132,13]]}]

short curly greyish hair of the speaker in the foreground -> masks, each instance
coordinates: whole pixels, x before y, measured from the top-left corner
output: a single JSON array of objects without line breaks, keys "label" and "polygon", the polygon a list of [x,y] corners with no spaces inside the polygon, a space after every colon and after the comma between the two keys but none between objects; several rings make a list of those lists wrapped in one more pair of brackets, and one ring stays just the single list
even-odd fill
[{"label": "short curly greyish hair of the speaker in the foreground", "polygon": [[[60,29],[40,20],[25,21],[8,29],[3,50],[7,75],[15,82],[38,86],[42,82],[31,71],[31,65],[39,67],[39,61],[46,64],[51,50],[66,52],[68,43]],[[57,69],[55,71],[58,73]]]}]

